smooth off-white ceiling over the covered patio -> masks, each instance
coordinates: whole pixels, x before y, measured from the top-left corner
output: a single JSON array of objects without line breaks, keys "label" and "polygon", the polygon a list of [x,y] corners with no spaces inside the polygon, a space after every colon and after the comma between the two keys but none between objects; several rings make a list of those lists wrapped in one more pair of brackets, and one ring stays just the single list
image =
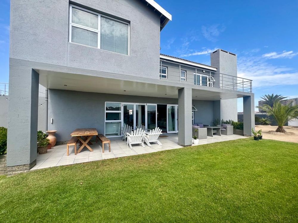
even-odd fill
[{"label": "smooth off-white ceiling over the covered patio", "polygon": [[[98,92],[120,95],[139,95],[162,98],[178,98],[178,89],[181,87],[164,84],[150,84],[138,81],[120,80],[97,76],[62,73],[55,71],[39,70],[40,84],[49,89],[62,89],[83,92]],[[158,82],[159,80],[156,80]],[[243,97],[242,92],[235,94],[232,91],[218,92],[214,88],[193,89],[193,99],[220,100]],[[222,89],[221,89],[222,91]]]}]

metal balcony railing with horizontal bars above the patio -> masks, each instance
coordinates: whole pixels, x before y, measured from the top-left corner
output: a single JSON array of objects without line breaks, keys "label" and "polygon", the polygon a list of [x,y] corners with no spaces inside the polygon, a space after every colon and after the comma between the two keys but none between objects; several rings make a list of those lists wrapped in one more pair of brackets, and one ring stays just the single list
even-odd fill
[{"label": "metal balcony railing with horizontal bars above the patio", "polygon": [[[160,79],[163,80],[229,89],[234,91],[252,92],[252,80],[246,78],[218,73],[202,68],[196,68],[189,65],[182,65],[166,60],[160,60],[160,65],[161,67],[167,67],[166,71],[165,69],[160,69],[160,72],[162,72],[160,74]],[[186,70],[186,80],[181,78],[181,70]],[[164,78],[165,76],[166,78]]]}]

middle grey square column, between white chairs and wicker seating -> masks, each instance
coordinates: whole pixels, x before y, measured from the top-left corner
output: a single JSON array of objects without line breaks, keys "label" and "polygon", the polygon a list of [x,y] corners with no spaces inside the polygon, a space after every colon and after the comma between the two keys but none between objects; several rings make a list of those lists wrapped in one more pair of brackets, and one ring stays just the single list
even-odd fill
[{"label": "middle grey square column, between white chairs and wicker seating", "polygon": [[192,89],[178,90],[178,144],[192,145]]}]

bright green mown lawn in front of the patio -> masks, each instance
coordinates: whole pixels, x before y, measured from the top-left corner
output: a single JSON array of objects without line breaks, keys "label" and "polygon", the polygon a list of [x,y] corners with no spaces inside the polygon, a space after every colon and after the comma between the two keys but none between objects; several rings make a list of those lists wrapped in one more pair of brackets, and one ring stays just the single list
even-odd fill
[{"label": "bright green mown lawn in front of the patio", "polygon": [[0,222],[297,222],[298,144],[238,139],[0,178]]}]

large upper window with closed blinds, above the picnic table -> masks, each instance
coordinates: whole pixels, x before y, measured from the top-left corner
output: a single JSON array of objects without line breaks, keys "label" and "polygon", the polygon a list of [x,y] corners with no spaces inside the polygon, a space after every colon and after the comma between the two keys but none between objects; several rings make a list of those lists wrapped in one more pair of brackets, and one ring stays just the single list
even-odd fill
[{"label": "large upper window with closed blinds, above the picnic table", "polygon": [[129,54],[129,24],[77,6],[70,6],[69,41]]}]

